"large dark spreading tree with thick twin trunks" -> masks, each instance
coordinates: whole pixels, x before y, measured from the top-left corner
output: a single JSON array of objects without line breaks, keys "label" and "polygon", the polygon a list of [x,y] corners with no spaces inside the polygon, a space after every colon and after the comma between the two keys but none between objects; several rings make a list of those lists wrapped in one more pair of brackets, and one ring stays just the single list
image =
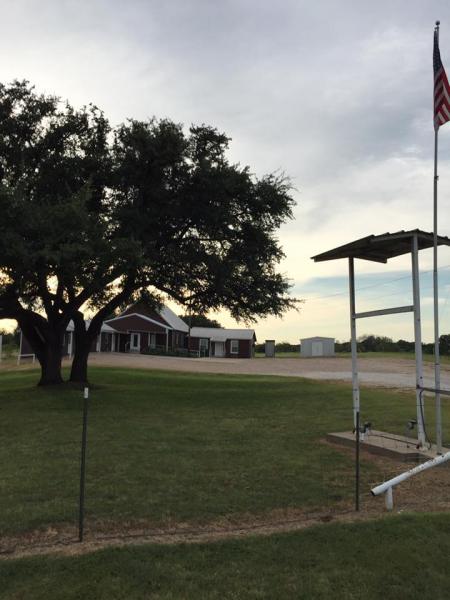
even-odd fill
[{"label": "large dark spreading tree with thick twin trunks", "polygon": [[296,306],[277,271],[289,181],[231,164],[229,141],[167,119],[112,128],[95,106],[0,84],[0,318],[18,321],[41,383],[61,381],[71,319],[83,381],[105,317],[143,293],[247,321]]}]

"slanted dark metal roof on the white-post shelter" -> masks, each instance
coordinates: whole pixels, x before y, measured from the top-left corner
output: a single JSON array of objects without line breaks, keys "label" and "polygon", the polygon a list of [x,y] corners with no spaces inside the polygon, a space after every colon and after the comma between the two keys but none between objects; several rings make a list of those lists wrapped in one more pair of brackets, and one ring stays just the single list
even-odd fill
[{"label": "slanted dark metal roof on the white-post shelter", "polygon": [[[344,244],[333,250],[317,254],[311,258],[315,262],[336,260],[337,258],[362,258],[375,262],[386,263],[390,258],[409,254],[411,242],[417,236],[419,250],[433,247],[433,234],[420,229],[411,231],[397,231],[396,233],[383,233],[382,235],[368,235],[367,237]],[[450,246],[450,239],[438,236],[438,246]]]}]

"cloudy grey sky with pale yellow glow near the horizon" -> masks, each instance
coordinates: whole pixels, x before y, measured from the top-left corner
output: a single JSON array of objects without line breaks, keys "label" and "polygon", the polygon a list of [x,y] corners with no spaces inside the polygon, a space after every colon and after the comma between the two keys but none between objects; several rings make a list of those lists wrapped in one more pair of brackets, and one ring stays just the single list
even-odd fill
[{"label": "cloudy grey sky with pale yellow glow near the horizon", "polygon": [[[432,230],[432,44],[450,70],[450,3],[423,0],[3,0],[1,80],[127,117],[208,123],[257,176],[284,171],[295,220],[281,269],[305,303],[258,339],[349,338],[346,261],[310,257],[371,233]],[[450,124],[440,133],[439,232],[450,235]],[[440,251],[441,333],[450,332],[450,249]],[[357,261],[358,308],[405,304],[409,257]],[[432,339],[431,253],[421,256]],[[408,300],[409,302],[409,300]],[[232,321],[220,315],[225,325]],[[412,339],[411,315],[359,333]]]}]

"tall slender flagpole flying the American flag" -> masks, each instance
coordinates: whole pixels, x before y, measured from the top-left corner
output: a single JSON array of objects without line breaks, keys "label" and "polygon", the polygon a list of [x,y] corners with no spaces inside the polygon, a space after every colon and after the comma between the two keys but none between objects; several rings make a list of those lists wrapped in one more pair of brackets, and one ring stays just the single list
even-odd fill
[{"label": "tall slender flagpole flying the American flag", "polygon": [[[436,36],[439,46],[439,21],[436,21]],[[434,129],[434,182],[433,182],[433,296],[434,296],[434,387],[436,407],[436,452],[442,454],[442,420],[441,420],[441,365],[439,356],[439,293],[438,293],[438,255],[437,255],[437,185],[438,185],[438,132]]]}]

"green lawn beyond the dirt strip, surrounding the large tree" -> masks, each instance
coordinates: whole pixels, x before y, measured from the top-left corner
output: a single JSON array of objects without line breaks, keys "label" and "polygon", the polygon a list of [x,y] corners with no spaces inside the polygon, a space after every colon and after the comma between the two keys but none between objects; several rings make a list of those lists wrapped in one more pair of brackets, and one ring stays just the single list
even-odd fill
[{"label": "green lawn beyond the dirt strip, surrounding the large tree", "polygon": [[[0,377],[0,532],[75,524],[81,392],[37,388],[36,370]],[[351,427],[346,384],[107,368],[91,378],[88,527],[207,522],[352,497],[351,456],[320,442]],[[361,398],[376,428],[403,433],[414,417],[413,392],[364,389]],[[382,476],[371,463],[363,475],[367,491]]]}]

